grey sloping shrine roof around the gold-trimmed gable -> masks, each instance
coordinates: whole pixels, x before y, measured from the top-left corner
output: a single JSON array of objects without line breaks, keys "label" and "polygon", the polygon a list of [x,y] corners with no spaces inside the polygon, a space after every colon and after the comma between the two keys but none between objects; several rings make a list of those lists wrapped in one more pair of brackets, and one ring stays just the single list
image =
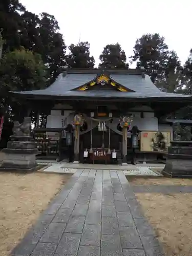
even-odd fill
[{"label": "grey sloping shrine roof around the gold-trimmed gable", "polygon": [[[84,84],[96,79],[99,74],[108,75],[116,83],[127,88],[127,92],[117,91],[78,91]],[[130,92],[130,91],[131,92]],[[139,69],[128,70],[99,70],[99,69],[69,69],[61,73],[50,87],[44,90],[13,92],[25,97],[55,96],[64,98],[188,98],[191,96],[174,93],[163,93],[151,81],[148,75]]]}]

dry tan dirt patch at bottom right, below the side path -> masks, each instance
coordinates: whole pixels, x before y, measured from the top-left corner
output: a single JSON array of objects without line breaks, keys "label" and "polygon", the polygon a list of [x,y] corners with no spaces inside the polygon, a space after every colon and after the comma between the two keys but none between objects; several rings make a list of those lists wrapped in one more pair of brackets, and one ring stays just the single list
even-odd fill
[{"label": "dry tan dirt patch at bottom right, below the side path", "polygon": [[191,194],[136,194],[166,256],[192,255]]}]

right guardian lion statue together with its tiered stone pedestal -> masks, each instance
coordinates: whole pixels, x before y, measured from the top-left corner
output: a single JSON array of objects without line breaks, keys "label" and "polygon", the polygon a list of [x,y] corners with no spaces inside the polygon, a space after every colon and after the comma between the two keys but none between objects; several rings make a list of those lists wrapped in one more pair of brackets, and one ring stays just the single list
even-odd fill
[{"label": "right guardian lion statue together with its tiered stone pedestal", "polygon": [[170,142],[162,174],[170,178],[192,178],[192,141],[190,127],[174,125],[174,140]]}]

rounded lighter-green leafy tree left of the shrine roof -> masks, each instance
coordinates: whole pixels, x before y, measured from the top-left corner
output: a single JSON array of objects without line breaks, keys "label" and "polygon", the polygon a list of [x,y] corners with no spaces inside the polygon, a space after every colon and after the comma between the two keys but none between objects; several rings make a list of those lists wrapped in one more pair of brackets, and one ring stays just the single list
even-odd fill
[{"label": "rounded lighter-green leafy tree left of the shrine roof", "polygon": [[[0,105],[4,112],[9,109],[17,119],[26,115],[23,102],[14,100],[9,91],[29,91],[45,88],[45,65],[39,54],[25,49],[8,52],[0,63]],[[22,108],[20,108],[22,107]]]}]

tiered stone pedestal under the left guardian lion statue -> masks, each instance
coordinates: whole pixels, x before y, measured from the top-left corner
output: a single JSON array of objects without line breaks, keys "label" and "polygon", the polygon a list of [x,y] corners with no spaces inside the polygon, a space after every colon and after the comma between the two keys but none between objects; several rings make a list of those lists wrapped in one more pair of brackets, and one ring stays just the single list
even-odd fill
[{"label": "tiered stone pedestal under the left guardian lion statue", "polygon": [[7,148],[2,150],[5,153],[5,158],[0,170],[35,170],[38,150],[33,137],[13,135],[10,139]]}]

